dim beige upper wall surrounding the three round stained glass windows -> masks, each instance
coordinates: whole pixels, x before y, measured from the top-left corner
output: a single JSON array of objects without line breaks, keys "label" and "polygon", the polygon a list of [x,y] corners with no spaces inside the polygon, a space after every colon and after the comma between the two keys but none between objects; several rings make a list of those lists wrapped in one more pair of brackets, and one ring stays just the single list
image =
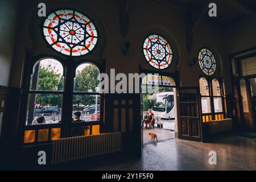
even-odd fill
[{"label": "dim beige upper wall surrounding the three round stained glass windows", "polygon": [[[23,22],[18,22],[20,30],[18,31],[18,44],[15,48],[14,63],[12,64],[12,79],[10,85],[20,87],[22,78],[22,67],[26,49],[31,55],[57,55],[61,59],[67,57],[61,56],[46,47],[42,39],[39,24],[42,18],[37,16],[37,6],[41,1],[28,1],[23,3],[23,11],[20,14]],[[164,72],[174,73],[179,71],[181,86],[199,86],[199,77],[203,76],[199,65],[189,67],[192,59],[197,57],[199,49],[202,47],[210,48],[217,58],[217,71],[214,77],[221,77],[225,83],[226,94],[232,93],[230,80],[229,53],[239,51],[244,48],[255,46],[255,42],[250,35],[255,35],[254,28],[256,24],[250,19],[237,28],[232,28],[227,32],[217,30],[205,23],[197,24],[194,35],[194,42],[191,53],[187,52],[185,39],[184,17],[178,11],[164,7],[153,1],[141,0],[132,1],[130,6],[129,31],[125,38],[122,37],[119,27],[119,1],[44,1],[47,10],[59,7],[75,7],[92,18],[99,29],[99,44],[93,55],[86,55],[82,58],[75,58],[75,61],[81,59],[95,60],[98,63],[106,63],[106,72],[111,68],[115,72],[139,73],[139,66],[148,70],[154,70],[146,63],[142,54],[142,41],[146,34],[155,32],[163,35],[174,49],[174,61],[170,68]],[[151,11],[154,10],[154,11]],[[247,29],[249,33],[247,33]],[[253,33],[254,31],[254,33]],[[238,38],[238,35],[245,38]],[[122,48],[125,42],[129,41],[131,47],[127,55],[123,55]],[[246,45],[246,46],[244,46]]]}]

